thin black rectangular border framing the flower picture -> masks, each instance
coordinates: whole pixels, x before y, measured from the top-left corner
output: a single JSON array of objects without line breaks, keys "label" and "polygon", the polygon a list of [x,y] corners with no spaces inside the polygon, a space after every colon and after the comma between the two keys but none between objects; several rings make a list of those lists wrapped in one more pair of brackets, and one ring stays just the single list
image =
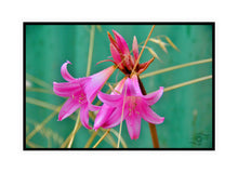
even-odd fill
[{"label": "thin black rectangular border framing the flower picture", "polygon": [[[26,147],[26,26],[27,25],[211,25],[212,26],[212,147],[211,148],[27,148]],[[142,150],[214,151],[215,150],[215,22],[23,22],[23,150]]]}]

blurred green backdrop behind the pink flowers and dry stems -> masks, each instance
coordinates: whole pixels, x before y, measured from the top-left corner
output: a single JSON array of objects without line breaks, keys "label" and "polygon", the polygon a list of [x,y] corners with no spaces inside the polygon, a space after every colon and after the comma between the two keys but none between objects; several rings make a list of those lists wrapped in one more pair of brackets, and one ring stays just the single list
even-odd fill
[{"label": "blurred green backdrop behind the pink flowers and dry stems", "polygon": [[[72,63],[68,65],[68,70],[75,78],[85,76],[91,28],[92,25],[25,25],[26,137],[31,135],[26,143],[27,148],[60,148],[74,130],[78,111],[63,121],[57,121],[57,114],[52,116],[52,119],[48,118],[57,106],[66,101],[52,93],[52,84],[53,81],[64,82],[61,66],[66,61]],[[98,65],[96,63],[110,56],[107,31],[111,32],[113,29],[122,35],[129,48],[132,49],[133,36],[136,36],[138,43],[144,42],[151,25],[96,26],[91,74],[111,65],[110,62]],[[144,74],[211,58],[212,31],[212,25],[156,25],[151,38],[168,36],[180,51],[168,45],[169,53],[167,54],[158,44],[149,41],[147,46],[151,48],[162,62],[155,59]],[[149,58],[151,54],[145,50],[141,62]],[[117,74],[117,71],[114,74],[109,82],[116,82]],[[168,88],[210,75],[212,75],[212,63],[206,63],[144,78],[142,81],[149,93],[158,90],[159,86]],[[119,72],[117,78],[121,79],[122,74]],[[107,90],[108,86],[103,89],[103,91]],[[158,115],[166,118],[162,124],[156,125],[160,147],[212,148],[212,104],[211,79],[166,92],[153,106]],[[39,131],[32,135],[36,129]],[[119,125],[114,129],[119,131]],[[80,128],[71,147],[83,148],[92,134],[93,131]],[[103,131],[98,132],[90,147],[103,134]],[[153,148],[148,123],[144,120],[142,120],[138,139],[130,139],[125,122],[122,124],[121,135],[128,148]],[[117,137],[113,133],[110,137],[117,143]],[[113,146],[110,141],[105,138],[97,148],[113,148]]]}]

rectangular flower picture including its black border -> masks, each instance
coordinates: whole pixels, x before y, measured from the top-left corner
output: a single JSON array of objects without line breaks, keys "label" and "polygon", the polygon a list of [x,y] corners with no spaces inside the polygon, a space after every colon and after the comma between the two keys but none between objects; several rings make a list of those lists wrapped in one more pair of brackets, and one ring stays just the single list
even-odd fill
[{"label": "rectangular flower picture including its black border", "polygon": [[24,149],[214,150],[214,23],[24,23]]}]

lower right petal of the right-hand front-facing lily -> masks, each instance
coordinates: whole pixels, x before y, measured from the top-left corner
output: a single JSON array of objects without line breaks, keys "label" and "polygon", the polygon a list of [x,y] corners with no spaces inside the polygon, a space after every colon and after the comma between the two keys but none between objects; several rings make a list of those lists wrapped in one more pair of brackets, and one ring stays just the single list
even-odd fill
[{"label": "lower right petal of the right-hand front-facing lily", "polygon": [[148,106],[141,107],[140,115],[145,121],[154,123],[154,124],[160,124],[164,120],[164,117],[160,117],[155,111],[153,111],[153,109],[149,108]]}]

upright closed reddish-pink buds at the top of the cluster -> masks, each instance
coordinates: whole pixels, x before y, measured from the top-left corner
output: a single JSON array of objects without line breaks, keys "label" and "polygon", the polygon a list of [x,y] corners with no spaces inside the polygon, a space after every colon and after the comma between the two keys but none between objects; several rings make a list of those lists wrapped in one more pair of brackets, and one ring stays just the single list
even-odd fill
[{"label": "upright closed reddish-pink buds at the top of the cluster", "polygon": [[[128,46],[127,41],[124,38],[119,35],[117,31],[113,30],[115,35],[115,39],[113,36],[108,32],[108,37],[110,40],[110,52],[114,58],[114,63],[118,66],[118,68],[125,75],[131,74],[136,59],[138,58],[138,44],[136,37],[134,36],[133,43],[132,43],[132,52],[133,56],[130,54],[130,50]],[[154,61],[154,58],[149,59],[146,63],[138,64],[135,68],[135,71],[137,74],[142,74],[146,68],[149,66],[149,64]]]}]

